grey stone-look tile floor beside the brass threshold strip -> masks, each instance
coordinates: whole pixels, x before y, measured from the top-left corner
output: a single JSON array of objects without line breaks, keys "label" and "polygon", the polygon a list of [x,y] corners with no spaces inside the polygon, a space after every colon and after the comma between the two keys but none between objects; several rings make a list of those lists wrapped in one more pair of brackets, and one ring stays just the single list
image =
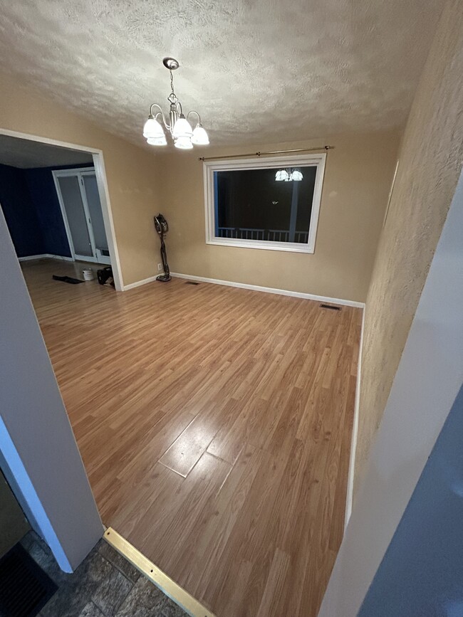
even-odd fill
[{"label": "grey stone-look tile floor beside the brass threshold strip", "polygon": [[58,591],[39,617],[186,617],[182,608],[101,539],[73,574],[61,571],[34,532],[21,544]]}]

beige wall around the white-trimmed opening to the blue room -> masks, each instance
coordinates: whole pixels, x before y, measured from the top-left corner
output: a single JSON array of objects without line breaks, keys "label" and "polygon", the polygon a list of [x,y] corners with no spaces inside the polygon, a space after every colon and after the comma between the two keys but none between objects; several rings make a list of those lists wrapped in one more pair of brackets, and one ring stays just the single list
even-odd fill
[{"label": "beige wall around the white-trimmed opening to the blue room", "polygon": [[[123,283],[155,274],[156,158],[0,75],[0,128],[103,150]],[[96,95],[96,94],[95,94]],[[143,119],[140,119],[140,130]]]}]

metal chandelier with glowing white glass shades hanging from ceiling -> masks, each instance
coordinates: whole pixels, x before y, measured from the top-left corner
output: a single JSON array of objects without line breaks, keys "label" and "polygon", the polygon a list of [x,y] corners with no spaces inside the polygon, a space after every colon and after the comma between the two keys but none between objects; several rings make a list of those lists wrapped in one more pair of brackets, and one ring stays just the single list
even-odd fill
[{"label": "metal chandelier with glowing white glass shades hanging from ceiling", "polygon": [[[195,146],[207,146],[209,144],[209,137],[207,137],[207,132],[204,130],[201,124],[201,117],[198,112],[191,111],[188,112],[187,117],[184,116],[182,110],[182,103],[177,99],[177,96],[174,92],[174,76],[172,75],[172,70],[176,70],[179,68],[179,63],[175,58],[164,58],[162,63],[165,65],[170,72],[170,90],[171,93],[167,97],[167,100],[170,102],[169,109],[169,122],[166,121],[164,112],[162,111],[162,107],[157,105],[157,103],[153,103],[150,107],[150,115],[148,116],[147,121],[145,122],[145,126],[143,127],[143,137],[146,138],[148,144],[151,146],[165,146],[167,144],[167,140],[165,138],[165,132],[162,128],[160,122],[158,122],[158,117],[162,118],[162,123],[164,124],[166,130],[170,132],[172,135],[172,139],[174,140],[174,145],[176,148],[180,148],[182,150],[190,150],[193,145]],[[156,114],[153,114],[153,107],[157,107],[159,111]],[[192,129],[191,125],[188,122],[188,118],[190,115],[197,115],[197,125]]]}]

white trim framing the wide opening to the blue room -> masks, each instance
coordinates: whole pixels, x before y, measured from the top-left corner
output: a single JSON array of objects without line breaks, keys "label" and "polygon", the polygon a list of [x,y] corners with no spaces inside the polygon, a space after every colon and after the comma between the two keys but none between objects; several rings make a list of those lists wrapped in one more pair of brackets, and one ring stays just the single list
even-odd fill
[{"label": "white trim framing the wide opening to the blue room", "polygon": [[19,139],[28,139],[31,142],[40,142],[42,144],[50,144],[51,146],[58,146],[61,148],[68,148],[71,150],[78,150],[80,152],[88,152],[89,154],[92,154],[93,165],[95,167],[95,176],[98,184],[98,192],[100,193],[101,210],[103,212],[103,222],[105,223],[106,238],[108,239],[108,249],[110,253],[111,267],[113,268],[115,289],[117,291],[123,291],[123,275],[120,268],[118,244],[115,238],[113,211],[111,210],[110,204],[108,180],[106,179],[103,150],[88,146],[81,146],[79,144],[61,142],[58,139],[49,139],[48,137],[40,137],[38,135],[30,135],[28,133],[23,133],[19,131],[11,131],[9,129],[3,129],[1,127],[0,135],[19,137]]}]

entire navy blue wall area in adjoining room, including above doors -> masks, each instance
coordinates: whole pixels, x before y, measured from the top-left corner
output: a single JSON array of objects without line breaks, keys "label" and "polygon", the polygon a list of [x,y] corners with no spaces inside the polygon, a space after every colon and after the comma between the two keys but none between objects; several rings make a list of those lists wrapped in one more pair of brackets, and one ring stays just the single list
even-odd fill
[{"label": "entire navy blue wall area in adjoining room, including above doors", "polygon": [[71,257],[66,228],[53,182],[53,169],[92,164],[19,169],[0,164],[0,204],[18,257]]}]

